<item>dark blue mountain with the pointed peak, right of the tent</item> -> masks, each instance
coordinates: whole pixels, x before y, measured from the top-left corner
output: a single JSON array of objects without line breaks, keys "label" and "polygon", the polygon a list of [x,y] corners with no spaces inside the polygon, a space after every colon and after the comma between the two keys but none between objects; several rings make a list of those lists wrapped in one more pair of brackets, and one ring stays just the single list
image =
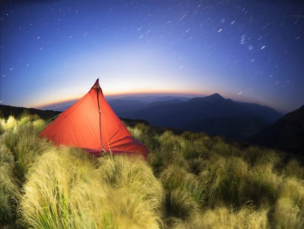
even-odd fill
[{"label": "dark blue mountain with the pointed peak, right of the tent", "polygon": [[129,118],[151,125],[203,131],[235,140],[248,140],[282,114],[258,104],[235,102],[215,93],[187,101],[170,100],[148,104]]}]

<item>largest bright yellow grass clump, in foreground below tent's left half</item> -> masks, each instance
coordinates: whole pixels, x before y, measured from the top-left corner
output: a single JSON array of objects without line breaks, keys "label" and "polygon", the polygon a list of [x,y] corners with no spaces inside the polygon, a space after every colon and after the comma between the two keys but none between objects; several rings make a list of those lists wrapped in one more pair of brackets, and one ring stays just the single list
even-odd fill
[{"label": "largest bright yellow grass clump, in foreground below tent's left half", "polygon": [[[104,186],[79,150],[51,150],[27,175],[20,223],[34,228],[103,228]],[[109,219],[110,220],[110,219]]]}]

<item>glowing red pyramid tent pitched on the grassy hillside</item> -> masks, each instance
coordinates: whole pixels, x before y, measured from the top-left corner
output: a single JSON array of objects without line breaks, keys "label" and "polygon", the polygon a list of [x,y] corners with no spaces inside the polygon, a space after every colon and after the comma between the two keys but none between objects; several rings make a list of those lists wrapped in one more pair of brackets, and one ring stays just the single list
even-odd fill
[{"label": "glowing red pyramid tent pitched on the grassy hillside", "polygon": [[40,136],[52,140],[57,147],[83,148],[97,156],[111,152],[141,154],[146,158],[149,153],[140,141],[132,138],[106,102],[99,79],[83,98],[62,112]]}]

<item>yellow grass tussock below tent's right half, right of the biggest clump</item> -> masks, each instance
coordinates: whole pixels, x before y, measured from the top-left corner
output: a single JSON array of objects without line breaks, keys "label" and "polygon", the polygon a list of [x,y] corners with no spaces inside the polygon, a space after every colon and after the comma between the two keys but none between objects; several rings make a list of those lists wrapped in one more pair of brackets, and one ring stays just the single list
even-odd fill
[{"label": "yellow grass tussock below tent's right half, right of the biggest clump", "polygon": [[145,208],[163,217],[165,193],[162,184],[154,176],[148,164],[141,158],[116,156],[98,159],[99,174],[109,185],[117,189],[126,189],[137,199],[145,203]]}]

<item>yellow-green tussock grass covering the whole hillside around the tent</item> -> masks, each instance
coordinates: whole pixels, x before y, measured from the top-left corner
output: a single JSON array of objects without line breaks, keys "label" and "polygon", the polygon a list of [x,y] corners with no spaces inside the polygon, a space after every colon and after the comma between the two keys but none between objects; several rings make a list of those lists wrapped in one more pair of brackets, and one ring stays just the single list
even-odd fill
[{"label": "yellow-green tussock grass covering the whole hillside around the tent", "polygon": [[147,161],[91,158],[39,138],[37,115],[0,124],[2,227],[304,228],[304,168],[274,150],[137,124]]}]

